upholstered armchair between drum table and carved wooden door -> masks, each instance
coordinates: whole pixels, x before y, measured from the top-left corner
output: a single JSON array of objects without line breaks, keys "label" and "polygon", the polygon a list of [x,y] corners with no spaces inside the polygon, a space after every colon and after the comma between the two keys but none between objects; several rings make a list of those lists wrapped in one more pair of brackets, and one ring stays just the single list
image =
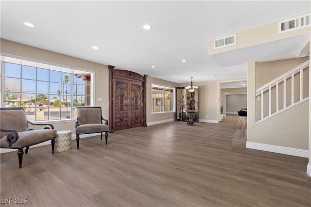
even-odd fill
[{"label": "upholstered armchair between drum table and carved wooden door", "polygon": [[[103,140],[103,132],[105,132],[106,144],[108,140],[108,120],[102,116],[102,107],[77,107],[76,121],[76,141],[77,149],[79,149],[80,134],[101,133]],[[104,124],[103,124],[103,121]]]}]

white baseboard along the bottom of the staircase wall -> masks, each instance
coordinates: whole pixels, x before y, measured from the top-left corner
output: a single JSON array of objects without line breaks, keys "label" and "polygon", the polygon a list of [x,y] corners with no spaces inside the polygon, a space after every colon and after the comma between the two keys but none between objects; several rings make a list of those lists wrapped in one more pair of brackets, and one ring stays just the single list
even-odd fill
[{"label": "white baseboard along the bottom of the staircase wall", "polygon": [[263,144],[263,143],[252,143],[246,142],[246,148],[257,149],[267,152],[275,152],[285,155],[293,155],[297,157],[309,158],[309,150],[306,149],[297,149],[285,146],[277,146],[271,144]]}]

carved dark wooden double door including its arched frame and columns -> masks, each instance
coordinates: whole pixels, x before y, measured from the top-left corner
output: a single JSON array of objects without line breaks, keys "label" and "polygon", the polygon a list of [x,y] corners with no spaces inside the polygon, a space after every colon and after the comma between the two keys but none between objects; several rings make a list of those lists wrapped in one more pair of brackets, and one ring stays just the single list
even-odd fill
[{"label": "carved dark wooden double door including its arched frame and columns", "polygon": [[147,75],[109,68],[109,130],[146,127]]}]

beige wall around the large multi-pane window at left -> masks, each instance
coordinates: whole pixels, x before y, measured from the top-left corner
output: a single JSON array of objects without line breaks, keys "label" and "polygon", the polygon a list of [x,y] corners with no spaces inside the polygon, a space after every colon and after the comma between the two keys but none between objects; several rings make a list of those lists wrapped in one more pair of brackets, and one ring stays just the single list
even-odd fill
[{"label": "beige wall around the large multi-pane window at left", "polygon": [[[70,57],[67,55],[51,52],[44,49],[34,48],[27,45],[11,42],[8,40],[0,40],[1,55],[13,55],[14,57],[27,58],[39,62],[58,64],[68,67],[81,68],[95,71],[95,106],[101,106],[103,117],[108,118],[108,67],[103,64],[97,64],[86,60]],[[97,98],[103,98],[103,101],[98,102]],[[56,130],[71,130],[75,131],[75,121],[53,123]],[[34,127],[35,128],[35,127]]]}]

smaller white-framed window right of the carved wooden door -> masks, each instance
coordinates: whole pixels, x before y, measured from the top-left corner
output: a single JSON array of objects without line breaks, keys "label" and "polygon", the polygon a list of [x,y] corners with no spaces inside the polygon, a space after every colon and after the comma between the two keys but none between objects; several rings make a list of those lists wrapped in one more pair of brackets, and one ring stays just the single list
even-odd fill
[{"label": "smaller white-framed window right of the carved wooden door", "polygon": [[152,84],[152,112],[175,111],[174,97],[174,88]]}]

